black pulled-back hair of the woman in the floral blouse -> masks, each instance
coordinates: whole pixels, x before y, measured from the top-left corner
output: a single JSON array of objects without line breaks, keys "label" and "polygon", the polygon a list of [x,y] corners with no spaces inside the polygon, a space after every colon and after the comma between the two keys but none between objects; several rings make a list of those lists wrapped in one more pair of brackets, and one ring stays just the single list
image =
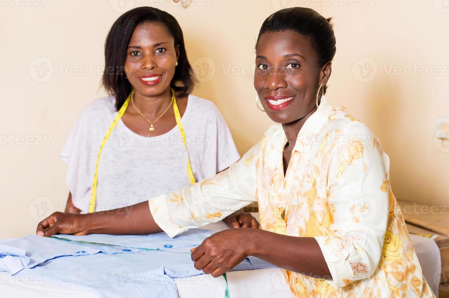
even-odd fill
[{"label": "black pulled-back hair of the woman in the floral blouse", "polygon": [[331,19],[326,19],[315,10],[305,7],[281,9],[265,19],[260,27],[255,48],[257,49],[260,36],[265,32],[294,31],[309,38],[317,53],[318,65],[325,65],[334,59],[337,51]]}]

